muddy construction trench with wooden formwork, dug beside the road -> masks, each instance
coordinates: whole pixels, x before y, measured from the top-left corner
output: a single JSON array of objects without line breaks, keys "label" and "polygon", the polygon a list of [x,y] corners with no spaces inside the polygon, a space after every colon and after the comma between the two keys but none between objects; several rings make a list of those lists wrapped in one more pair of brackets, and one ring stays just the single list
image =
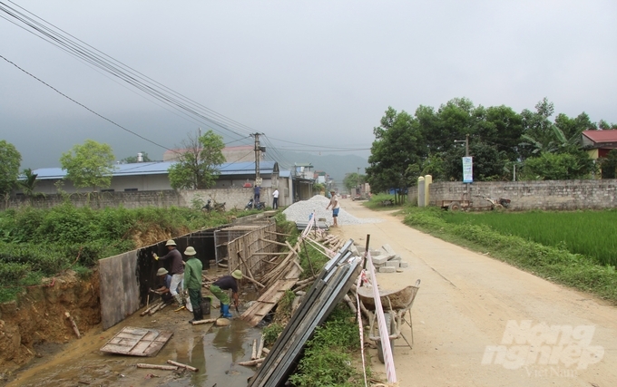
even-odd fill
[{"label": "muddy construction trench with wooden formwork, dug beside the road", "polygon": [[[346,242],[328,236],[317,228],[315,237],[319,232],[320,241],[328,245],[324,252],[328,251],[332,258],[337,257],[333,260],[338,264],[329,266],[329,270],[334,270],[332,273],[343,270],[347,274],[342,283],[340,278],[343,276],[335,276],[338,278],[337,292],[328,291],[319,296],[322,300],[320,302],[329,306],[318,308],[315,313],[309,313],[301,302],[290,306],[286,317],[288,321],[289,318],[295,318],[295,309],[292,308],[299,311],[306,309],[306,312],[300,314],[308,315],[309,320],[298,323],[301,333],[298,338],[289,336],[289,340],[299,340],[294,344],[297,349],[291,351],[291,357],[286,355],[288,349],[279,349],[282,343],[277,342],[272,348],[276,356],[286,359],[286,362],[298,358],[299,349],[312,330],[348,292],[351,285],[349,278],[357,276],[357,260],[353,267],[348,267],[348,247],[353,241]],[[14,303],[15,312],[33,310],[40,313],[42,309],[43,315],[54,315],[54,318],[36,320],[22,312],[24,317],[16,324],[21,330],[20,335],[14,335],[13,339],[21,340],[24,355],[21,363],[14,361],[11,371],[2,375],[5,381],[9,381],[8,385],[73,386],[75,383],[83,383],[129,386],[172,382],[180,386],[244,386],[250,378],[257,376],[254,366],[259,370],[260,363],[265,360],[265,354],[260,355],[260,359],[253,359],[257,356],[254,354],[257,343],[263,346],[262,331],[257,325],[265,317],[272,316],[273,309],[293,287],[294,292],[304,289],[303,293],[314,294],[315,286],[311,285],[316,278],[322,284],[319,288],[326,289],[328,286],[323,282],[324,278],[332,277],[326,269],[321,271],[312,266],[300,266],[300,242],[293,247],[289,245],[285,241],[285,234],[277,232],[273,220],[202,229],[174,240],[180,251],[191,246],[198,252],[197,257],[204,269],[202,279],[205,289],[218,276],[228,275],[236,269],[243,272],[244,278],[240,282],[241,305],[240,310],[233,313],[234,318],[224,326],[217,326],[216,318],[211,318],[219,314],[218,300],[214,297],[211,315],[204,316],[211,319],[200,322],[204,324],[188,324],[191,314],[186,309],[168,306],[156,311],[157,307],[149,308],[158,305],[160,301],[149,292],[149,289],[157,287],[156,271],[161,266],[169,265],[152,259],[152,253],[159,256],[165,254],[165,241],[161,241],[99,260],[90,279],[79,279],[74,273],[67,272],[64,276],[73,278],[72,281],[56,277],[52,279],[53,286],[47,284],[37,289],[28,289],[26,295]],[[347,247],[335,253],[343,245]],[[305,270],[309,272],[304,273]],[[304,279],[300,280],[300,277]],[[307,286],[310,286],[310,290]],[[202,294],[207,296],[209,291],[204,288]],[[87,292],[90,293],[86,296]],[[42,305],[29,306],[27,303],[36,294],[43,294],[39,297]],[[48,307],[44,308],[44,305]],[[155,312],[147,313],[149,309]],[[70,318],[67,318],[67,313]],[[25,320],[29,320],[30,324],[25,324]],[[58,334],[36,334],[38,331],[46,332],[42,322],[50,321],[54,324],[47,326],[53,325]],[[25,334],[33,336],[31,331],[24,329],[28,327],[34,330],[34,335],[40,337],[29,342],[30,346],[24,344]],[[83,337],[76,339],[78,334],[83,334]],[[119,343],[118,338],[120,342],[128,343],[129,338],[132,340],[140,334],[142,336],[129,343],[130,348],[126,351],[126,347],[115,345]],[[152,337],[157,334],[162,334],[164,340],[153,340]],[[142,348],[152,349],[152,343],[155,342],[158,345],[156,351],[141,352]],[[103,350],[103,347],[106,349]],[[109,348],[120,349],[116,353],[124,355],[113,354],[114,351],[107,351]],[[268,353],[269,349],[263,351]],[[253,356],[248,360],[247,355],[251,352]],[[127,356],[127,353],[140,356],[152,354],[152,357]],[[26,365],[16,374],[12,373],[24,363]],[[178,367],[169,363],[185,365]],[[290,364],[293,362],[287,365],[281,363],[283,368],[275,377],[284,379],[293,371]],[[260,378],[263,379],[262,376]]]}]

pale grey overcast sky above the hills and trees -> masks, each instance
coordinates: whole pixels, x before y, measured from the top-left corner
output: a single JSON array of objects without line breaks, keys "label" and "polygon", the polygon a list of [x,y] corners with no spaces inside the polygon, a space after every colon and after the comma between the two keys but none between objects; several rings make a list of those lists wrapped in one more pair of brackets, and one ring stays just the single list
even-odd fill
[{"label": "pale grey overcast sky above the hills and trees", "polygon": [[[413,112],[455,97],[519,112],[547,97],[558,113],[617,122],[614,0],[0,3],[248,127],[217,128],[227,141],[252,130],[279,149],[368,149],[388,106]],[[29,31],[0,18],[0,55],[105,118],[168,148],[209,129]],[[0,139],[21,152],[22,169],[59,166],[86,139],[109,143],[118,160],[164,151],[1,58]]]}]

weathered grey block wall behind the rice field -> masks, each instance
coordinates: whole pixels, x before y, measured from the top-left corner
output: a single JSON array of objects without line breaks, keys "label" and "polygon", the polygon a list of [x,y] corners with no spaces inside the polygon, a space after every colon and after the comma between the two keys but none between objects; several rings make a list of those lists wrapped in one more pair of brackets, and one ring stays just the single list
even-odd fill
[{"label": "weathered grey block wall behind the rice field", "polygon": [[[488,206],[484,195],[509,198],[510,209],[602,209],[617,207],[617,179],[551,180],[551,181],[495,181],[469,184],[469,195],[476,206]],[[465,193],[462,182],[434,182],[430,186],[429,204],[440,200],[460,199]]]}]

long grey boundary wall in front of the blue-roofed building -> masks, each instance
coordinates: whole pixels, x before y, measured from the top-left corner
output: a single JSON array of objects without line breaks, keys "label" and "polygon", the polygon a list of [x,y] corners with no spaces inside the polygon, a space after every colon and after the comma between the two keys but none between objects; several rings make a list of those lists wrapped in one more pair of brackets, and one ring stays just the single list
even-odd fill
[{"label": "long grey boundary wall in front of the blue-roofed building", "polygon": [[[282,189],[281,189],[282,190]],[[272,188],[261,189],[261,201],[265,201],[267,206],[272,206]],[[76,207],[90,206],[92,208],[106,207],[192,207],[193,204],[203,203],[211,198],[218,203],[226,203],[225,208],[244,208],[253,196],[252,188],[228,188],[228,189],[194,189],[194,190],[159,190],[159,191],[129,191],[129,192],[93,192],[93,193],[73,193],[67,196],[47,195],[44,198],[25,198],[22,196],[3,201],[2,208],[20,208],[32,204],[35,208],[52,208],[69,198]],[[279,195],[279,205],[289,206],[291,204],[289,194],[286,196],[281,192]]]}]

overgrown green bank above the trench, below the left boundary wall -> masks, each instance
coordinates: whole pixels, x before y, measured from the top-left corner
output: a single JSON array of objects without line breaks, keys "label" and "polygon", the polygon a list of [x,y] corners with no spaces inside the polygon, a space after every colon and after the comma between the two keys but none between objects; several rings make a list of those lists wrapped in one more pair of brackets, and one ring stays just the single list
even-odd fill
[{"label": "overgrown green bank above the trench, below the left boundary wall", "polygon": [[136,248],[136,235],[155,230],[176,237],[227,220],[191,208],[96,210],[70,203],[0,212],[0,303],[67,269],[88,276],[98,259]]}]

